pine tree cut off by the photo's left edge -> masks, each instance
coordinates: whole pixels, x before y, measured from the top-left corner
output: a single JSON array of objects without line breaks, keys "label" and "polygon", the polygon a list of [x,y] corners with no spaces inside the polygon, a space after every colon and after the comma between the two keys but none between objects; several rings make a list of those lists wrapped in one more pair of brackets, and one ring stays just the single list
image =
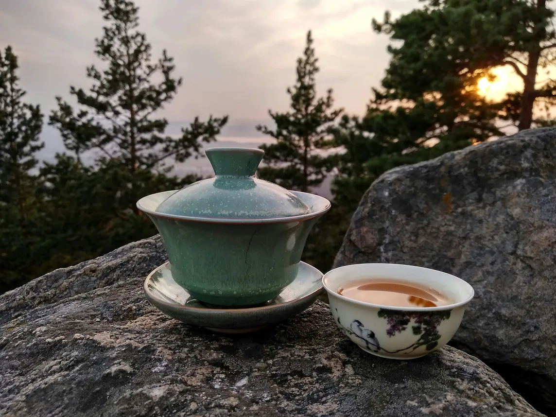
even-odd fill
[{"label": "pine tree cut off by the photo's left edge", "polygon": [[[0,51],[0,293],[22,284],[36,233],[36,153],[42,114],[22,101],[18,63],[11,47]],[[23,272],[22,272],[23,271]]]}]

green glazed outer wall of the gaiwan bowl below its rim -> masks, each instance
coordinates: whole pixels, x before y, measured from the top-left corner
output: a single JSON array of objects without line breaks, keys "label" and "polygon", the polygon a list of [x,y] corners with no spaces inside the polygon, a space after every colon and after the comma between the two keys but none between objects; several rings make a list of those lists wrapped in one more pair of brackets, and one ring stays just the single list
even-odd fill
[{"label": "green glazed outer wall of the gaiwan bowl below its rim", "polygon": [[316,219],[277,224],[206,224],[151,217],[176,282],[197,300],[250,305],[272,299],[295,279]]}]

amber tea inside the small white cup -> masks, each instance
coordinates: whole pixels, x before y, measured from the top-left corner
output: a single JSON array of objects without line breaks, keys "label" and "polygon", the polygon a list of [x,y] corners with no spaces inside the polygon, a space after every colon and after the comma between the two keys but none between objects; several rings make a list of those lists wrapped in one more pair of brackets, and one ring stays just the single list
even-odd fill
[{"label": "amber tea inside the small white cup", "polygon": [[347,282],[337,293],[354,300],[392,307],[437,307],[453,302],[432,288],[381,278]]}]

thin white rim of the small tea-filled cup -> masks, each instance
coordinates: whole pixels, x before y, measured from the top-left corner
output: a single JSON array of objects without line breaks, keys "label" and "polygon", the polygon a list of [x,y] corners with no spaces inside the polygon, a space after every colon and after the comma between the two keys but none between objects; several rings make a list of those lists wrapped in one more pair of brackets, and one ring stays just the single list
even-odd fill
[{"label": "thin white rim of the small tea-filled cup", "polygon": [[[336,291],[331,290],[330,287],[328,285],[326,285],[326,278],[328,276],[330,276],[330,273],[332,271],[338,271],[341,269],[349,269],[349,267],[353,267],[356,265],[368,265],[368,266],[374,266],[374,265],[391,265],[391,266],[404,266],[404,267],[411,267],[412,269],[419,269],[419,270],[427,270],[427,271],[431,271],[434,272],[435,274],[443,274],[445,276],[449,276],[450,279],[452,280],[456,280],[459,281],[463,284],[463,286],[468,287],[468,289],[470,290],[470,294],[468,297],[466,297],[465,300],[463,301],[459,301],[459,302],[454,302],[452,304],[447,304],[447,305],[443,305],[443,306],[436,306],[436,307],[398,307],[398,306],[389,306],[389,305],[383,305],[383,304],[375,304],[373,302],[365,302],[365,301],[359,301],[359,300],[355,300],[355,299],[351,299],[349,297],[337,294]],[[469,302],[473,299],[473,297],[475,296],[475,290],[473,289],[473,287],[469,284],[469,282],[462,280],[461,278],[456,277],[455,275],[452,274],[448,274],[448,272],[443,272],[443,271],[439,271],[436,269],[431,269],[431,268],[425,268],[423,266],[416,266],[416,265],[409,265],[409,264],[389,264],[387,262],[369,262],[369,263],[361,263],[361,264],[350,264],[350,265],[344,265],[344,266],[339,266],[337,268],[333,268],[330,271],[326,272],[326,274],[324,274],[322,276],[322,286],[324,287],[324,289],[326,290],[327,294],[329,296],[335,297],[337,300],[345,300],[346,302],[350,302],[352,304],[357,304],[357,305],[361,305],[361,306],[365,306],[365,307],[374,307],[376,309],[385,309],[385,310],[397,310],[397,311],[412,311],[412,312],[426,312],[426,311],[446,311],[446,310],[453,310],[457,307],[469,304]]]}]

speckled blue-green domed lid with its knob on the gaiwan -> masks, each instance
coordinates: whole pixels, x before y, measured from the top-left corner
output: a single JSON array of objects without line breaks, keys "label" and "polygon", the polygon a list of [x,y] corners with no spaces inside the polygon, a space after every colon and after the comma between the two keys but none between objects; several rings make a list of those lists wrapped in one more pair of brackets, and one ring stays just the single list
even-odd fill
[{"label": "speckled blue-green domed lid with its knob on the gaiwan", "polygon": [[255,172],[264,151],[256,148],[209,148],[215,176],[176,191],[158,205],[163,215],[197,219],[275,219],[309,214],[291,191],[260,180]]}]

